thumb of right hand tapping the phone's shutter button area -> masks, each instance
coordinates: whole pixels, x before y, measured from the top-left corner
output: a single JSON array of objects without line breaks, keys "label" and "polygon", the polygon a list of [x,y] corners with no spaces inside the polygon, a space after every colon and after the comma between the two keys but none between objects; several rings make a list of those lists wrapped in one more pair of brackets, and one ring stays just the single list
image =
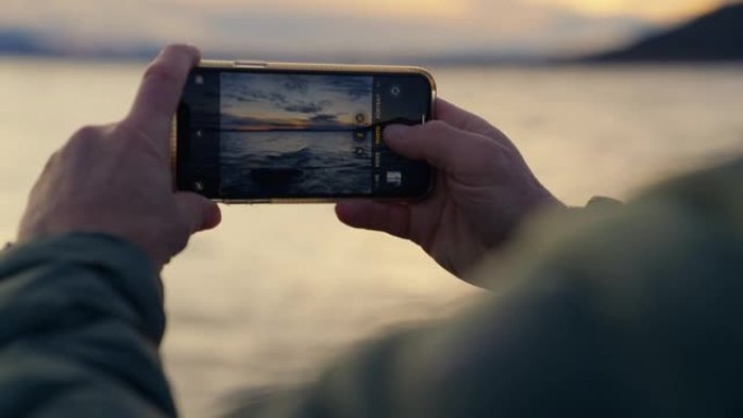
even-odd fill
[{"label": "thumb of right hand tapping the phone's shutter button area", "polygon": [[443,121],[416,126],[390,125],[383,135],[392,151],[449,172],[466,170],[474,160],[481,160],[481,150],[492,147],[489,138]]}]

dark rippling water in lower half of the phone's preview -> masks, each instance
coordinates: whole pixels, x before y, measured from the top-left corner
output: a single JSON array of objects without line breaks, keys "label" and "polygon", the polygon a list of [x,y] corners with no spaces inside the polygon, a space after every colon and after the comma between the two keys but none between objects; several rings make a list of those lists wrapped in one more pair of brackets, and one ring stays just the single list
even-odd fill
[{"label": "dark rippling water in lower half of the phone's preview", "polygon": [[221,190],[225,197],[368,193],[372,143],[351,131],[224,132]]}]

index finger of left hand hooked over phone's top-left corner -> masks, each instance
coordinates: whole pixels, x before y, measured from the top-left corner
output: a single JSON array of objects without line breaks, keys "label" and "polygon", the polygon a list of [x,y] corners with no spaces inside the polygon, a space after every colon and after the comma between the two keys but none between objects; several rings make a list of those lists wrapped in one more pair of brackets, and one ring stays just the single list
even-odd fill
[{"label": "index finger of left hand hooked over phone's top-left corner", "polygon": [[127,122],[152,138],[167,136],[188,73],[200,59],[194,47],[165,47],[147,67]]}]

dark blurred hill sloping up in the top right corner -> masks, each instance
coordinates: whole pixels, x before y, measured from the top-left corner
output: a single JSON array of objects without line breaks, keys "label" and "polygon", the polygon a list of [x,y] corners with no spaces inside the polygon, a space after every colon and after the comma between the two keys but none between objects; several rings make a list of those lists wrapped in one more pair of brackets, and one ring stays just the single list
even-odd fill
[{"label": "dark blurred hill sloping up in the top right corner", "polygon": [[743,61],[743,3],[731,4],[591,62]]}]

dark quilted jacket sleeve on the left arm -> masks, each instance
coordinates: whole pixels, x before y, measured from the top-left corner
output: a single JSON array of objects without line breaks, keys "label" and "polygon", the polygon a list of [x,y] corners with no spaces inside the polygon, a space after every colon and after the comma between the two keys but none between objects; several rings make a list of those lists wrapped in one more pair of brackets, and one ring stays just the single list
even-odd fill
[{"label": "dark quilted jacket sleeve on the left arm", "polygon": [[160,278],[134,244],[90,233],[0,258],[0,417],[175,417],[158,346]]}]

